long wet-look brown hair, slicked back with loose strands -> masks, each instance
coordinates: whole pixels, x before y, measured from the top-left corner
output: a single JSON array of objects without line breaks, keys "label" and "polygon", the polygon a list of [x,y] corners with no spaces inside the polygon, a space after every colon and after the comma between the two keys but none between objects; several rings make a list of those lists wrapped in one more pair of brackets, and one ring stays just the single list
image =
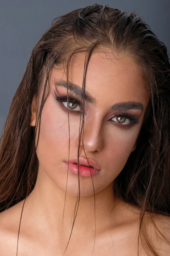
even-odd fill
[{"label": "long wet-look brown hair, slicked back with loose strands", "polygon": [[65,61],[68,82],[71,57],[85,51],[87,58],[82,85],[83,114],[80,116],[79,154],[80,137],[84,130],[85,77],[89,58],[97,47],[112,50],[117,55],[131,56],[146,80],[150,99],[137,146],[114,180],[114,193],[123,201],[141,209],[140,237],[146,241],[147,255],[158,256],[143,226],[146,211],[170,216],[170,64],[165,44],[134,13],[96,3],[76,9],[54,19],[35,45],[2,130],[0,211],[25,199],[35,186],[38,159],[36,129],[30,126],[31,103],[34,95],[37,99],[39,97],[42,78],[46,76],[36,118],[39,127],[42,108],[49,94],[48,77],[51,67],[63,65]]}]

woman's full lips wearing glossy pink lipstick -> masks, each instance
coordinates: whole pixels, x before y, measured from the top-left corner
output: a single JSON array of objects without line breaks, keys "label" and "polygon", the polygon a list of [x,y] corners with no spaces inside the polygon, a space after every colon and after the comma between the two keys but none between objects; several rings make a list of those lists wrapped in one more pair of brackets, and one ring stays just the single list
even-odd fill
[{"label": "woman's full lips wearing glossy pink lipstick", "polygon": [[[89,161],[89,163],[88,163]],[[97,163],[92,159],[79,157],[79,175],[83,177],[91,177],[100,172],[100,168]],[[64,161],[64,165],[73,173],[78,175],[78,158],[73,158],[68,161]]]}]

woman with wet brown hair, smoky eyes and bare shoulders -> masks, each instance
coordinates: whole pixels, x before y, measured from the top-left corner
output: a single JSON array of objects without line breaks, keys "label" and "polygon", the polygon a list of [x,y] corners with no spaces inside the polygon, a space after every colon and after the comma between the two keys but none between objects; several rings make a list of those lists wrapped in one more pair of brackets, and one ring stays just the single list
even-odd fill
[{"label": "woman with wet brown hair, smoky eyes and bare shoulders", "polygon": [[167,48],[140,17],[56,18],[4,124],[1,255],[170,255],[169,98]]}]

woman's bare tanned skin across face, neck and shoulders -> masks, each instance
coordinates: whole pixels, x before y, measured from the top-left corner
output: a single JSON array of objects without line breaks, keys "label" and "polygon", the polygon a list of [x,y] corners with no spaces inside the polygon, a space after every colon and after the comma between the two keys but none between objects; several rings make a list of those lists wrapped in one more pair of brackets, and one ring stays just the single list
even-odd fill
[{"label": "woman's bare tanned skin across face, neck and shoulders", "polygon": [[[83,69],[84,55],[74,56],[70,62],[70,82],[81,87]],[[57,90],[61,95],[66,94],[67,90],[56,88],[54,79],[66,81],[64,69],[52,68],[50,71],[50,94],[42,111],[37,147],[38,177],[35,188],[23,208],[18,256],[135,256],[140,210],[116,198],[113,193],[113,181],[123,169],[131,152],[135,150],[135,141],[149,101],[140,70],[129,57],[115,59],[113,56],[106,58],[103,53],[92,54],[86,77],[86,91],[95,97],[96,104],[92,106],[88,102],[85,103],[83,145],[87,158],[94,159],[101,172],[92,177],[95,218],[92,178],[79,176],[80,202],[67,249],[73,222],[72,213],[77,201],[78,176],[68,171],[67,180],[67,168],[63,165],[63,161],[68,159],[68,114],[67,109],[65,111],[56,102],[54,92]],[[41,97],[42,92],[38,106]],[[126,111],[140,116],[140,122],[127,129],[120,128],[116,124],[116,118],[115,123],[108,122],[115,114],[122,112],[108,111],[108,107],[127,101],[136,101],[143,105],[143,111]],[[30,124],[32,126],[35,126],[35,117],[34,98]],[[72,159],[77,157],[79,114],[70,112],[69,117],[69,159]],[[85,157],[82,140],[79,156]],[[16,255],[22,205],[23,201],[0,214],[1,255]],[[167,220],[165,218],[166,227]],[[159,218],[157,223],[160,224]],[[151,237],[149,215],[146,216],[146,227]],[[152,237],[156,238],[153,234]],[[161,248],[164,248],[164,244]],[[139,255],[147,255],[140,244]]]}]

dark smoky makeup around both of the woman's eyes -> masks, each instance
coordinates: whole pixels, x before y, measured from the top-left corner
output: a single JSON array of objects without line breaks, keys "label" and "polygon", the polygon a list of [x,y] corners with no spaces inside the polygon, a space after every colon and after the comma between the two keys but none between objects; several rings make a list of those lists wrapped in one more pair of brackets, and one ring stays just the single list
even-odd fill
[{"label": "dark smoky makeup around both of the woman's eyes", "polygon": [[[67,95],[65,95],[65,94],[57,95],[56,92],[55,92],[55,100],[60,104],[62,109],[67,112],[67,107],[65,107],[64,104],[63,104],[63,102],[67,102]],[[80,107],[80,104],[81,104],[80,101],[75,96],[73,96],[73,94],[71,94],[71,93],[68,94],[68,102],[76,104],[79,107]],[[69,109],[69,107],[68,107],[68,109]],[[82,111],[69,109],[69,112],[73,113],[73,114],[80,114],[80,112],[82,112]],[[115,117],[124,117],[124,118],[130,120],[131,123],[127,124],[127,125],[124,125],[123,123],[120,124],[119,122],[116,122],[116,121],[112,120]],[[128,128],[134,126],[135,124],[139,124],[139,122],[140,122],[139,119],[140,119],[140,116],[135,116],[133,114],[117,113],[107,121],[113,122],[115,125],[119,126],[120,128],[128,129]]]}]

